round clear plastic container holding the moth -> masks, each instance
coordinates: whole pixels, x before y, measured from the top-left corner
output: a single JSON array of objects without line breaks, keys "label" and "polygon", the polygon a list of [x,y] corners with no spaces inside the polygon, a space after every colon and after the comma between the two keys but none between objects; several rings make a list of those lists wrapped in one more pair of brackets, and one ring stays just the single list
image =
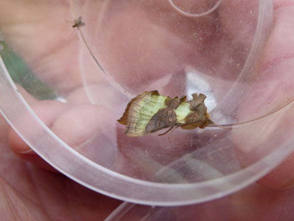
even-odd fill
[{"label": "round clear plastic container holding the moth", "polygon": [[[58,171],[113,198],[172,206],[240,190],[293,151],[294,126],[281,126],[293,94],[271,99],[287,79],[262,63],[272,1],[250,2],[71,1],[19,30],[21,44],[3,32],[1,113]],[[85,25],[73,31],[71,16]],[[204,93],[211,119],[232,129],[127,137],[116,120],[149,90]]]}]

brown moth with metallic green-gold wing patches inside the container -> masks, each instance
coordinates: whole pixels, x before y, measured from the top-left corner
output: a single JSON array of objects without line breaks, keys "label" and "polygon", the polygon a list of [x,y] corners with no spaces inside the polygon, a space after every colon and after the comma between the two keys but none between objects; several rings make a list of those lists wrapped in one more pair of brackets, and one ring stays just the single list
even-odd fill
[{"label": "brown moth with metallic green-gold wing patches inside the container", "polygon": [[165,128],[170,128],[169,132],[177,127],[192,130],[214,124],[204,104],[206,96],[193,93],[192,97],[187,101],[186,96],[170,98],[156,90],[146,91],[127,104],[117,121],[126,126],[125,134],[129,137],[140,137]]}]

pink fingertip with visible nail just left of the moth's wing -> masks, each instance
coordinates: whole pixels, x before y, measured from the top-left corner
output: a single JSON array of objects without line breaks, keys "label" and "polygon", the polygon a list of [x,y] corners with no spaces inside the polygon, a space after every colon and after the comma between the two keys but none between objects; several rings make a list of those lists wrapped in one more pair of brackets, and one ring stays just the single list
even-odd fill
[{"label": "pink fingertip with visible nail just left of the moth's wing", "polygon": [[111,167],[117,155],[113,111],[96,105],[80,105],[64,112],[52,131],[70,147],[104,167]]}]

